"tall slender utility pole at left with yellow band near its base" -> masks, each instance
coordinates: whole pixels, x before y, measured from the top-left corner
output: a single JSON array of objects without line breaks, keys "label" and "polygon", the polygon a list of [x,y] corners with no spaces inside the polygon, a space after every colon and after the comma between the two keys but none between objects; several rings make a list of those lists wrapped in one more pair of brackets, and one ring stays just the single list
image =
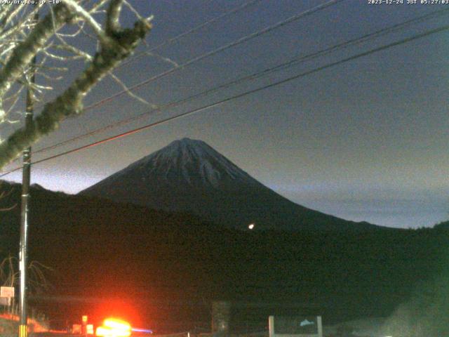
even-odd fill
[{"label": "tall slender utility pole at left with yellow band near its base", "polygon": [[[39,20],[39,14],[36,11],[34,20]],[[32,76],[30,84],[35,82],[36,74],[36,56],[31,63]],[[27,88],[27,102],[25,108],[25,128],[32,127],[34,112],[34,95],[32,88]],[[31,147],[28,147],[22,154],[22,204],[20,209],[20,251],[19,251],[19,270],[20,270],[20,300],[19,300],[19,337],[27,337],[27,242],[29,225],[29,182],[31,179]]]}]

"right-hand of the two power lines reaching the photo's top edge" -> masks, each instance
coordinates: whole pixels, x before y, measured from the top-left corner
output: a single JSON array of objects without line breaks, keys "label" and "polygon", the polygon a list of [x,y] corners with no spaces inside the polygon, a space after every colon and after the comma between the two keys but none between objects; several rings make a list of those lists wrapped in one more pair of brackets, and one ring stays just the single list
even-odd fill
[{"label": "right-hand of the two power lines reaching the photo's top edge", "polygon": [[154,75],[153,77],[150,77],[149,79],[146,79],[145,81],[142,81],[142,82],[140,82],[138,84],[130,86],[126,90],[119,91],[118,93],[114,93],[114,95],[111,95],[111,96],[109,96],[107,98],[103,98],[102,100],[100,100],[100,101],[98,101],[96,103],[88,105],[87,107],[84,108],[83,111],[91,110],[94,107],[98,107],[100,105],[103,105],[103,104],[109,102],[109,100],[113,100],[114,98],[117,98],[117,97],[123,95],[124,93],[128,93],[128,92],[130,92],[132,90],[140,88],[141,86],[145,86],[145,85],[151,83],[152,81],[156,81],[157,79],[161,79],[163,77],[166,77],[169,74],[173,74],[173,72],[177,72],[177,70],[184,69],[185,67],[188,67],[189,65],[193,65],[194,63],[199,62],[201,60],[204,60],[205,58],[213,56],[213,55],[215,55],[217,53],[221,53],[222,51],[225,51],[225,50],[227,50],[229,48],[232,48],[234,46],[238,46],[239,44],[243,44],[244,42],[250,41],[251,39],[255,39],[255,37],[260,37],[260,35],[267,34],[268,32],[271,32],[274,29],[277,29],[277,28],[283,27],[285,25],[288,25],[290,22],[293,22],[295,20],[299,20],[300,18],[304,18],[306,16],[312,15],[312,14],[318,12],[318,11],[322,11],[323,9],[326,9],[326,8],[328,8],[330,6],[334,6],[334,5],[336,5],[336,4],[338,4],[338,3],[342,2],[342,1],[345,1],[345,0],[330,0],[330,1],[325,2],[324,4],[320,4],[319,6],[315,6],[313,8],[310,8],[310,9],[308,9],[306,11],[303,11],[303,12],[301,12],[299,14],[290,16],[290,18],[287,18],[286,20],[279,21],[279,22],[275,23],[274,25],[265,27],[264,29],[260,29],[257,32],[253,32],[251,34],[246,35],[245,37],[241,37],[240,39],[232,41],[231,43],[226,44],[225,46],[220,46],[218,48],[215,48],[213,51],[209,51],[208,53],[204,53],[204,54],[201,54],[199,56],[196,56],[195,58],[192,58],[192,59],[188,60],[187,62],[184,62],[181,65],[178,65],[177,67],[174,67],[174,68],[171,68],[170,70],[167,70],[166,72],[161,72],[160,74]]}]

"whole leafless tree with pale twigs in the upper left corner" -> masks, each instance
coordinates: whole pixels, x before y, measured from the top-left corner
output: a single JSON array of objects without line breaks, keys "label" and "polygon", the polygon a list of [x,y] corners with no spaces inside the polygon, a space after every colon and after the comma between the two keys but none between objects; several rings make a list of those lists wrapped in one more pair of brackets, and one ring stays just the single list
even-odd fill
[{"label": "whole leafless tree with pale twigs in the upper left corner", "polygon": [[[60,4],[35,1],[34,6],[27,4],[34,0],[0,2],[0,125],[16,121],[15,107],[24,88],[39,99],[64,76],[68,61],[81,59],[86,65],[57,98],[41,107],[31,126],[19,128],[1,140],[0,168],[58,128],[62,120],[81,114],[86,94],[106,75],[116,79],[112,70],[151,29],[151,18],[142,18],[126,0],[61,0]],[[121,27],[123,8],[135,15],[132,28]],[[90,39],[91,46],[80,48],[74,43],[81,36]],[[34,63],[36,56],[39,58]],[[46,78],[46,84],[34,84],[34,73]]]}]

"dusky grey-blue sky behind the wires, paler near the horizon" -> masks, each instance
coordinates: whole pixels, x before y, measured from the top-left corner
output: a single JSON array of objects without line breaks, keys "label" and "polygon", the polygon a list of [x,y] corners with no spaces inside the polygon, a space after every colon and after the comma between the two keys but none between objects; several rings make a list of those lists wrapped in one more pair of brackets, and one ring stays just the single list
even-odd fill
[{"label": "dusky grey-blue sky behind the wires, paler near the horizon", "polygon": [[[152,51],[153,55],[131,58],[114,74],[128,86],[139,84],[326,1],[131,1],[139,13],[154,15],[154,28],[138,53],[246,2],[252,3],[164,44]],[[403,4],[369,2],[341,1],[180,67],[134,92],[154,105],[166,105],[298,55],[309,55],[425,13],[449,9],[449,4],[413,5],[407,4],[407,0]],[[129,13],[123,13],[123,24],[132,20]],[[448,23],[449,14],[417,22],[384,37],[244,81],[178,107],[145,114],[131,123],[36,153],[33,158],[50,157]],[[431,34],[119,140],[36,164],[32,183],[76,193],[173,140],[189,137],[206,141],[261,183],[297,204],[390,227],[434,225],[449,218],[448,38],[448,31]],[[76,44],[90,48],[83,39]],[[73,78],[81,66],[76,62],[70,65],[67,78]],[[68,79],[44,100],[55,97]],[[107,78],[88,95],[86,106],[118,91],[121,86]],[[149,105],[120,95],[83,116],[64,121],[58,131],[33,148],[39,150],[149,110]],[[11,131],[11,127],[0,129],[2,135]],[[15,162],[5,170],[18,164]],[[4,178],[17,181],[20,173]]]}]

